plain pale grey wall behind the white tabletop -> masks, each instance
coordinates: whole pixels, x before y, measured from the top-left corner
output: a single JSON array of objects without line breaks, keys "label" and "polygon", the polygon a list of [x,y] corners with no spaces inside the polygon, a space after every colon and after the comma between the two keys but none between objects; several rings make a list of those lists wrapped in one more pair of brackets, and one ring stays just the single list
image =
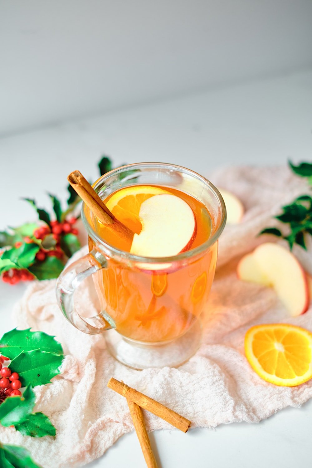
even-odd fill
[{"label": "plain pale grey wall behind the white tabletop", "polygon": [[0,0],[0,134],[303,71],[311,22],[311,0]]}]

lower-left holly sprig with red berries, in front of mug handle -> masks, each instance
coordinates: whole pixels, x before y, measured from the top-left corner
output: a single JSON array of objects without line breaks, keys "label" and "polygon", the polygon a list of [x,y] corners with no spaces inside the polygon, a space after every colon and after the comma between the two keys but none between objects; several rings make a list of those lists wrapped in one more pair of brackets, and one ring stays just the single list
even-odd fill
[{"label": "lower-left holly sprig with red berries, in front of mug handle", "polygon": [[[12,396],[12,388],[4,388],[6,383],[0,383],[4,395],[0,400],[0,424],[5,427],[13,425],[17,431],[30,437],[54,437],[56,429],[49,417],[42,412],[33,412],[36,398],[33,387],[50,383],[51,378],[60,373],[64,359],[61,344],[54,336],[41,331],[13,329],[2,336],[0,351],[6,356],[1,356],[1,367],[4,361],[11,361],[0,370],[2,382],[8,381],[6,376],[16,378],[17,375],[18,380],[11,379],[10,386],[25,388],[23,394],[15,390]],[[19,385],[14,382],[19,382]]]}]

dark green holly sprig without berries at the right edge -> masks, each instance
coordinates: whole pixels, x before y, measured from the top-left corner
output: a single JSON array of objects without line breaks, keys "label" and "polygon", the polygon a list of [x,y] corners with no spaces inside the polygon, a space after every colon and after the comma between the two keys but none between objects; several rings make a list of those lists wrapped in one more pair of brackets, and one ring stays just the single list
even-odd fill
[{"label": "dark green holly sprig without berries at the right edge", "polygon": [[[289,161],[289,166],[297,176],[305,177],[307,182],[312,185],[312,163],[301,162],[296,166]],[[290,250],[294,244],[298,244],[306,250],[305,234],[312,235],[312,196],[309,194],[301,195],[289,205],[282,206],[282,210],[283,212],[275,218],[285,225],[284,233],[277,227],[267,227],[260,234],[273,234],[285,239]]]}]

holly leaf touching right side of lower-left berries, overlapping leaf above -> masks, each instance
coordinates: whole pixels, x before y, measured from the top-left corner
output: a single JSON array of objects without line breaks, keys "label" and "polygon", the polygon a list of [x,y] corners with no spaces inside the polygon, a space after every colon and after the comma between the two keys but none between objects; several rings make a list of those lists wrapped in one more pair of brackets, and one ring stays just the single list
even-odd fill
[{"label": "holly leaf touching right side of lower-left berries, overlapping leaf above", "polygon": [[59,367],[63,358],[63,355],[42,351],[41,349],[23,351],[13,359],[10,366],[12,366],[14,372],[19,374],[22,387],[26,383],[30,383],[35,387],[36,385],[50,383],[52,377],[59,374]]}]

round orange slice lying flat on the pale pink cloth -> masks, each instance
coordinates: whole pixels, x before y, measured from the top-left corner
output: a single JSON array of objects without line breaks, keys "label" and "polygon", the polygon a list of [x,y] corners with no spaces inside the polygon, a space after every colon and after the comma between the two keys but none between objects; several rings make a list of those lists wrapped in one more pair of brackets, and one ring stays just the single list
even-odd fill
[{"label": "round orange slice lying flat on the pale pink cloth", "polygon": [[257,325],[245,335],[245,353],[264,380],[294,387],[312,377],[312,333],[294,325]]}]

